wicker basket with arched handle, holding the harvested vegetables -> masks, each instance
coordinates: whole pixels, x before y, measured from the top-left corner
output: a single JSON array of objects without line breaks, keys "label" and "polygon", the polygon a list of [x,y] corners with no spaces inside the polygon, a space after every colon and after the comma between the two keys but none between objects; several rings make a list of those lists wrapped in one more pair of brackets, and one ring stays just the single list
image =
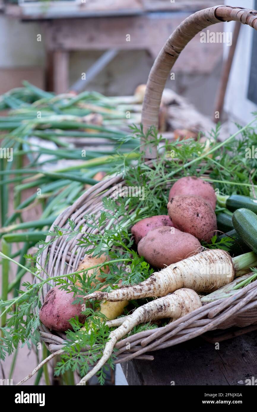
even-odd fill
[{"label": "wicker basket with arched handle, holding the harvested vegetables", "polygon": [[[257,11],[240,7],[216,6],[196,12],[180,24],[165,43],[151,69],[142,110],[144,130],[151,125],[158,126],[158,112],[163,88],[180,52],[202,29],[221,21],[239,21],[257,30]],[[152,163],[149,159],[154,159],[156,153],[156,147],[152,147],[151,150],[147,149],[148,164]],[[121,175],[97,183],[87,190],[73,206],[61,213],[51,229],[54,226],[68,229],[68,218],[75,222],[75,229],[85,223],[83,218],[85,215],[94,213],[98,218],[103,208],[102,198],[113,197],[113,186],[123,183],[125,182]],[[87,232],[91,230],[87,228]],[[45,268],[41,273],[44,279],[46,279],[46,274],[58,276],[76,270],[84,255],[83,248],[77,246],[81,236],[85,234],[81,233],[76,239],[69,241],[62,236],[44,250],[39,262],[39,265]],[[51,236],[47,236],[46,241],[50,239]],[[50,285],[45,283],[42,290],[42,302],[49,289]],[[257,324],[257,282],[251,283],[232,297],[206,304],[165,327],[147,330],[123,339],[116,344],[116,347],[120,349],[117,353],[119,356],[117,362],[132,358],[149,359],[151,357],[144,353],[173,346],[217,328],[245,327],[254,324]],[[63,333],[53,334],[44,325],[40,325],[40,334],[51,352],[61,349],[65,339]],[[130,342],[129,351],[125,345],[127,342]]]}]

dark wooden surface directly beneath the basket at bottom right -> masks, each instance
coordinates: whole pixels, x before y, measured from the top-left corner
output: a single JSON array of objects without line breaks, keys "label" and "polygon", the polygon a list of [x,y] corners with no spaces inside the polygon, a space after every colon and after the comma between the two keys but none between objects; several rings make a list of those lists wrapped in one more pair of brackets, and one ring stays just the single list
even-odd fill
[{"label": "dark wooden surface directly beneath the basket at bottom right", "polygon": [[[121,364],[129,385],[245,385],[257,378],[257,332],[215,344],[198,337]],[[238,383],[240,382],[240,383]]]}]

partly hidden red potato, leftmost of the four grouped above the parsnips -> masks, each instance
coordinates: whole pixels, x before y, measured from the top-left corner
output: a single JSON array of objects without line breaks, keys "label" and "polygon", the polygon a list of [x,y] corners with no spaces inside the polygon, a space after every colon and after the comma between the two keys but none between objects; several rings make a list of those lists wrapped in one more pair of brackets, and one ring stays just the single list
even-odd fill
[{"label": "partly hidden red potato, leftmost of the four grouped above the parsnips", "polygon": [[145,218],[139,220],[134,226],[131,228],[131,233],[134,236],[135,243],[139,242],[149,230],[154,229],[155,227],[160,226],[174,226],[170,216],[167,215],[157,215],[152,216],[151,218]]}]

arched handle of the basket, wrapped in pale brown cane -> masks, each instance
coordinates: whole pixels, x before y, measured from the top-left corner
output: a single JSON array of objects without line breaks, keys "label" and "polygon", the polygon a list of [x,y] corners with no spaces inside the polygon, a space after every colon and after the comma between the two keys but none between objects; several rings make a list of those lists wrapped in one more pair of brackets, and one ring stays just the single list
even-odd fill
[{"label": "arched handle of the basket, wrapped in pale brown cane", "polygon": [[[215,6],[191,14],[182,21],[164,44],[151,68],[141,116],[144,132],[152,125],[158,127],[163,89],[179,54],[197,33],[221,21],[239,21],[257,30],[257,11],[243,7]],[[144,143],[144,140],[141,140],[141,143]],[[157,147],[154,145],[148,145],[147,148],[142,146],[142,150],[145,151],[145,157],[148,159],[154,159],[157,156]]]}]

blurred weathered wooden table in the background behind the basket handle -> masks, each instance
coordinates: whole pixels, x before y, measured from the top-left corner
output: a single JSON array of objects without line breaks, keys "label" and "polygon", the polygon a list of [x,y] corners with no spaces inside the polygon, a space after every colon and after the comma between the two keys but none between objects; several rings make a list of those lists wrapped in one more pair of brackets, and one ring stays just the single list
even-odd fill
[{"label": "blurred weathered wooden table in the background behind the basket handle", "polygon": [[[1,0],[0,0],[1,1]],[[68,7],[68,3],[67,7]],[[40,4],[40,2],[39,2]],[[51,8],[29,14],[7,5],[5,14],[21,21],[39,21],[47,52],[47,89],[56,93],[69,87],[69,54],[81,50],[148,50],[156,58],[172,31],[191,13],[219,4],[218,0],[87,0],[68,15]],[[58,5],[58,2],[54,2]],[[29,2],[28,2],[29,7]],[[62,6],[63,7],[63,6]],[[220,26],[220,27],[219,27]],[[217,31],[223,30],[219,23]],[[130,35],[130,41],[127,41]],[[200,43],[194,38],[176,63],[186,73],[210,73],[222,59],[222,44]]]}]

